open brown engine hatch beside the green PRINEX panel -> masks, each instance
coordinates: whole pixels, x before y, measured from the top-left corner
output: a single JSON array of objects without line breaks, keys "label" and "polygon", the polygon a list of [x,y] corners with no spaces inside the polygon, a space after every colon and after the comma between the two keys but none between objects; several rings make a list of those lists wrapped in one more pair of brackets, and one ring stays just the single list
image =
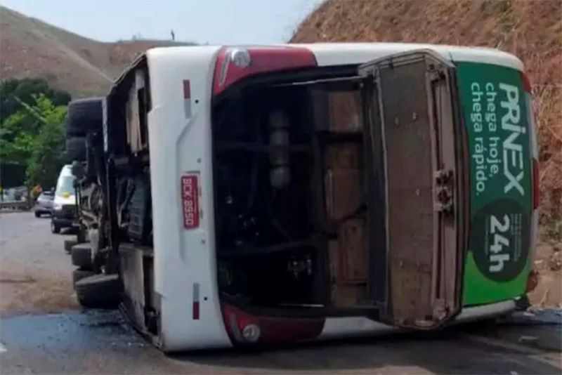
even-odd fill
[{"label": "open brown engine hatch beside the green PRINEX panel", "polygon": [[464,185],[454,70],[419,50],[359,67],[369,293],[379,319],[398,327],[435,328],[461,308]]}]

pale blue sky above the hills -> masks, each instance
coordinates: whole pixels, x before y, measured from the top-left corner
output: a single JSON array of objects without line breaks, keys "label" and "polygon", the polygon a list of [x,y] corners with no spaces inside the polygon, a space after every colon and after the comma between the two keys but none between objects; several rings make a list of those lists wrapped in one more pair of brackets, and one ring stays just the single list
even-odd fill
[{"label": "pale blue sky above the hills", "polygon": [[[288,41],[322,0],[0,0],[0,4],[99,41],[171,39],[199,44]],[[1,17],[1,13],[0,13]]]}]

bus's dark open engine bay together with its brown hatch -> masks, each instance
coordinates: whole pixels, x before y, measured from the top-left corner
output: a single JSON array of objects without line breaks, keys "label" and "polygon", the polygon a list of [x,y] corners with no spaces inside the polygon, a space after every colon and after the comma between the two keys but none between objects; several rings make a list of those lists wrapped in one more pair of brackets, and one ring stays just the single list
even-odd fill
[{"label": "bus's dark open engine bay together with its brown hatch", "polygon": [[417,51],[262,74],[214,97],[218,288],[235,343],[315,338],[330,317],[433,329],[459,313],[455,79]]}]

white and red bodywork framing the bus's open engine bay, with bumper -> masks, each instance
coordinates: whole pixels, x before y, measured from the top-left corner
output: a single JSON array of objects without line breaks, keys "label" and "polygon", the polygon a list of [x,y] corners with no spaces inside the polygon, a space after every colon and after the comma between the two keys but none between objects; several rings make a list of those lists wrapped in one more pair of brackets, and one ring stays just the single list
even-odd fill
[{"label": "white and red bodywork framing the bus's open engine bay, with bumper", "polygon": [[[256,51],[258,62],[254,61]],[[263,52],[261,56],[260,51]],[[371,334],[392,329],[392,326],[407,327],[396,320],[393,323],[392,320],[358,314],[314,315],[301,319],[257,316],[230,303],[225,304],[218,282],[213,118],[217,96],[245,79],[261,77],[259,74],[357,67],[372,60],[414,51],[429,51],[450,67],[459,62],[475,62],[523,72],[523,64],[518,58],[488,48],[391,43],[189,46],[151,49],[116,82],[108,96],[108,105],[114,109],[126,105],[123,99],[117,98],[119,93],[127,93],[119,98],[133,98],[130,93],[145,88],[150,96],[150,110],[146,114],[148,138],[140,135],[143,121],[132,121],[133,126],[127,125],[127,142],[131,154],[142,154],[146,148],[150,158],[153,257],[150,264],[153,272],[149,277],[149,284],[152,283],[149,288],[153,290],[143,291],[148,273],[143,273],[146,268],[139,265],[143,263],[142,255],[124,261],[122,277],[126,294],[132,301],[129,315],[157,346],[165,351],[176,351],[259,342],[264,334],[270,334],[268,327],[291,331],[295,329],[292,321],[296,320],[304,324],[308,320],[311,324],[320,324],[312,329],[315,333],[308,336],[302,333],[302,328],[295,329],[300,332],[296,334],[297,338],[308,340]],[[283,54],[289,57],[282,58]],[[266,65],[260,65],[264,61]],[[330,78],[312,84],[331,85],[336,81]],[[139,105],[133,105],[126,110],[129,111],[127,116],[137,114],[138,110]],[[108,155],[112,154],[111,139],[115,137],[111,126],[110,119],[104,127]],[[536,154],[532,156],[536,158]],[[468,238],[466,233],[465,236]],[[464,240],[460,242],[466,244]],[[458,254],[464,254],[466,249],[459,251]],[[454,259],[458,264],[464,264],[464,259]],[[463,284],[466,287],[463,270],[464,267],[457,269],[459,276],[452,284],[457,291],[451,298],[457,298],[459,302],[446,313],[446,320],[473,320],[501,315],[514,308],[515,296],[498,297],[496,301],[480,305],[462,302]],[[143,303],[148,303],[148,299],[157,312],[157,329],[152,331],[142,317],[146,308]],[[419,325],[422,327],[424,323]]]}]

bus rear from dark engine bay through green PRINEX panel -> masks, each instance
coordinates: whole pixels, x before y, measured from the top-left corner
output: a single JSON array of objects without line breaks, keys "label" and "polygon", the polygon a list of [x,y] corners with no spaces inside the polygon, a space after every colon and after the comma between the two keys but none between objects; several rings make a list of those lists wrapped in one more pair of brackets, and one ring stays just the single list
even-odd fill
[{"label": "bus rear from dark engine bay through green PRINEX panel", "polygon": [[214,96],[218,289],[234,343],[354,331],[341,317],[436,329],[525,294],[530,87],[518,60],[470,52],[261,74]]}]

